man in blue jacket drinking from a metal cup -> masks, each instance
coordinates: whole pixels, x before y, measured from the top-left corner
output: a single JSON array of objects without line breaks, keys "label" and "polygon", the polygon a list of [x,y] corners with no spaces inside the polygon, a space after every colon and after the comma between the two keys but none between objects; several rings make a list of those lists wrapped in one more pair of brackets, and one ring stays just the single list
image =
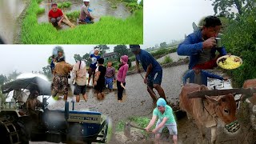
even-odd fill
[{"label": "man in blue jacket drinking from a metal cup", "polygon": [[[178,55],[190,56],[189,69],[198,67],[202,70],[213,69],[218,57],[226,55],[225,48],[217,47],[216,40],[221,29],[222,22],[219,18],[208,16],[203,21],[202,29],[195,31],[186,37],[178,46]],[[216,50],[219,52],[216,57]]]}]

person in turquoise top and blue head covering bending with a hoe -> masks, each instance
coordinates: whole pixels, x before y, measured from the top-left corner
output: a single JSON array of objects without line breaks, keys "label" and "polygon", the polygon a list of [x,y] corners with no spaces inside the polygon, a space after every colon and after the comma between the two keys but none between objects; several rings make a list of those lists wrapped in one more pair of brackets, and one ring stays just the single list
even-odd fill
[{"label": "person in turquoise top and blue head covering bending with a hoe", "polygon": [[174,144],[177,144],[177,124],[174,119],[173,110],[170,106],[166,105],[166,101],[163,98],[159,98],[157,102],[157,106],[153,111],[153,117],[148,126],[146,126],[146,130],[149,131],[150,127],[154,125],[154,122],[158,118],[158,122],[155,126],[155,129],[152,132],[155,135],[156,141],[160,138],[160,134],[162,133],[162,129],[166,126],[169,130],[170,135],[173,135]]}]

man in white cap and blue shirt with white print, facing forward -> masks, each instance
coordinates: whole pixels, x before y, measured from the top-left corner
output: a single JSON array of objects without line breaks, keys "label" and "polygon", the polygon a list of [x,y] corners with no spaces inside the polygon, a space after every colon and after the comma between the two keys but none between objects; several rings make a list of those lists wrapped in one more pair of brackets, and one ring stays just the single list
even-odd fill
[{"label": "man in white cap and blue shirt with white print, facing forward", "polygon": [[91,75],[93,75],[93,85],[94,85],[94,74],[95,74],[95,70],[97,68],[97,66],[96,66],[97,61],[99,58],[101,58],[101,56],[99,56],[98,53],[99,53],[98,47],[95,47],[94,54],[90,54],[91,62],[90,62],[89,70],[88,70],[89,78],[88,78],[87,86],[89,86],[89,84],[90,84]]}]

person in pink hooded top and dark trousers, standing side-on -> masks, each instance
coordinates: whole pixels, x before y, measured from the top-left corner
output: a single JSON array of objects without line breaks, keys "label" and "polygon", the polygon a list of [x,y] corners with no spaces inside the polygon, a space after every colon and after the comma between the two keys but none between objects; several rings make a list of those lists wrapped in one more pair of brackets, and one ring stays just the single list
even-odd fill
[{"label": "person in pink hooded top and dark trousers, standing side-on", "polygon": [[118,68],[118,79],[117,79],[117,87],[118,87],[118,102],[122,101],[122,92],[126,86],[126,73],[128,71],[128,56],[122,55],[120,58],[121,64]]}]

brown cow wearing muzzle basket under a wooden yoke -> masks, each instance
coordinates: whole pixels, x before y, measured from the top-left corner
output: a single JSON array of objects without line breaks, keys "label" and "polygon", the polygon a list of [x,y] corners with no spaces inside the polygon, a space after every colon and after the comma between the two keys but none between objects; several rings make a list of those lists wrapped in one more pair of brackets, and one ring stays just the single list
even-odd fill
[{"label": "brown cow wearing muzzle basket under a wooden yoke", "polygon": [[182,87],[179,95],[180,107],[186,111],[188,118],[194,118],[202,138],[205,140],[203,126],[211,127],[211,142],[215,143],[217,139],[218,120],[226,124],[226,129],[235,132],[239,129],[236,121],[236,103],[232,94],[214,96],[206,98],[188,98],[187,94],[198,90],[208,90],[206,86],[190,83]]}]

